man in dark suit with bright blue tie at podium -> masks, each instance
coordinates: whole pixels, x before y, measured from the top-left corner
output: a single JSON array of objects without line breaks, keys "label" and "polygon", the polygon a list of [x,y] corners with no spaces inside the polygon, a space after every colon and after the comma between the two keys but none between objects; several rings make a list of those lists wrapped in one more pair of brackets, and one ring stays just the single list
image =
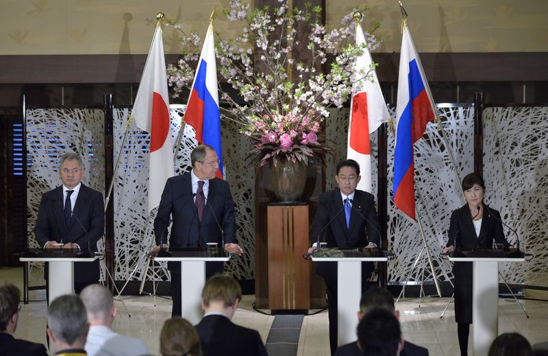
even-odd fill
[{"label": "man in dark suit with bright blue tie at podium", "polygon": [[[375,250],[380,245],[379,222],[375,211],[375,199],[371,193],[356,190],[360,182],[360,165],[346,160],[337,165],[335,180],[338,189],[320,195],[316,217],[310,228],[313,246],[325,233],[328,248],[366,248]],[[373,272],[373,263],[362,263],[362,289]],[[329,299],[329,344],[332,354],[337,348],[337,264],[316,263],[316,274],[327,286]]]}]

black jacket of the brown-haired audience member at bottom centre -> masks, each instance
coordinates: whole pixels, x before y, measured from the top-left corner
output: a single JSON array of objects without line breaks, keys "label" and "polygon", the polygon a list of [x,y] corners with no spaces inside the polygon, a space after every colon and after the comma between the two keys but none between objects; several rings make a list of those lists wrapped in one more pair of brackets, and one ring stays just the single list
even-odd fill
[{"label": "black jacket of the brown-haired audience member at bottom centre", "polygon": [[226,316],[204,316],[196,325],[203,356],[266,356],[258,331],[234,324]]}]

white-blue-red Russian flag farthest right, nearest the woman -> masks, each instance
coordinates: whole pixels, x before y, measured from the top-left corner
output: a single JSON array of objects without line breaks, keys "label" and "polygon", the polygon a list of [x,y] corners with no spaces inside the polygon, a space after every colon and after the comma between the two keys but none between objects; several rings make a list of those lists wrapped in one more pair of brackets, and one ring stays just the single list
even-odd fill
[{"label": "white-blue-red Russian flag farthest right, nearest the woman", "polygon": [[413,39],[403,24],[397,97],[396,147],[394,153],[394,201],[415,219],[413,144],[434,121],[434,101]]}]

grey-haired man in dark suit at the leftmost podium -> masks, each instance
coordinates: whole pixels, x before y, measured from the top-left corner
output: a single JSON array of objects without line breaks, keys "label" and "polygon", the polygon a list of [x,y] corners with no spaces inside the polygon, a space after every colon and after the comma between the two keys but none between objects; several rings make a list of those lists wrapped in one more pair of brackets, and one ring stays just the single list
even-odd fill
[{"label": "grey-haired man in dark suit at the leftmost podium", "polygon": [[[42,195],[34,235],[42,248],[97,251],[97,241],[105,232],[103,195],[82,184],[82,158],[73,152],[61,157],[60,187]],[[47,272],[46,272],[47,278]],[[74,264],[74,289],[99,281],[99,261]]]}]

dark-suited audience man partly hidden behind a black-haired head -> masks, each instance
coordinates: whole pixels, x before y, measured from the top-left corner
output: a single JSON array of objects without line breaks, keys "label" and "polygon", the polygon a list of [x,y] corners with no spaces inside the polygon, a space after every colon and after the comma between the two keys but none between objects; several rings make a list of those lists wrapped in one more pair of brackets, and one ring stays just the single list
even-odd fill
[{"label": "dark-suited audience man partly hidden behind a black-haired head", "polygon": [[[360,299],[360,311],[358,311],[358,320],[362,320],[364,316],[373,309],[386,309],[393,313],[399,319],[399,310],[395,310],[394,297],[386,289],[379,287],[371,287]],[[351,342],[337,348],[335,356],[359,356],[363,352],[358,345],[358,342]],[[403,341],[403,349],[399,353],[400,356],[428,356],[428,349],[417,346],[407,341]]]}]

